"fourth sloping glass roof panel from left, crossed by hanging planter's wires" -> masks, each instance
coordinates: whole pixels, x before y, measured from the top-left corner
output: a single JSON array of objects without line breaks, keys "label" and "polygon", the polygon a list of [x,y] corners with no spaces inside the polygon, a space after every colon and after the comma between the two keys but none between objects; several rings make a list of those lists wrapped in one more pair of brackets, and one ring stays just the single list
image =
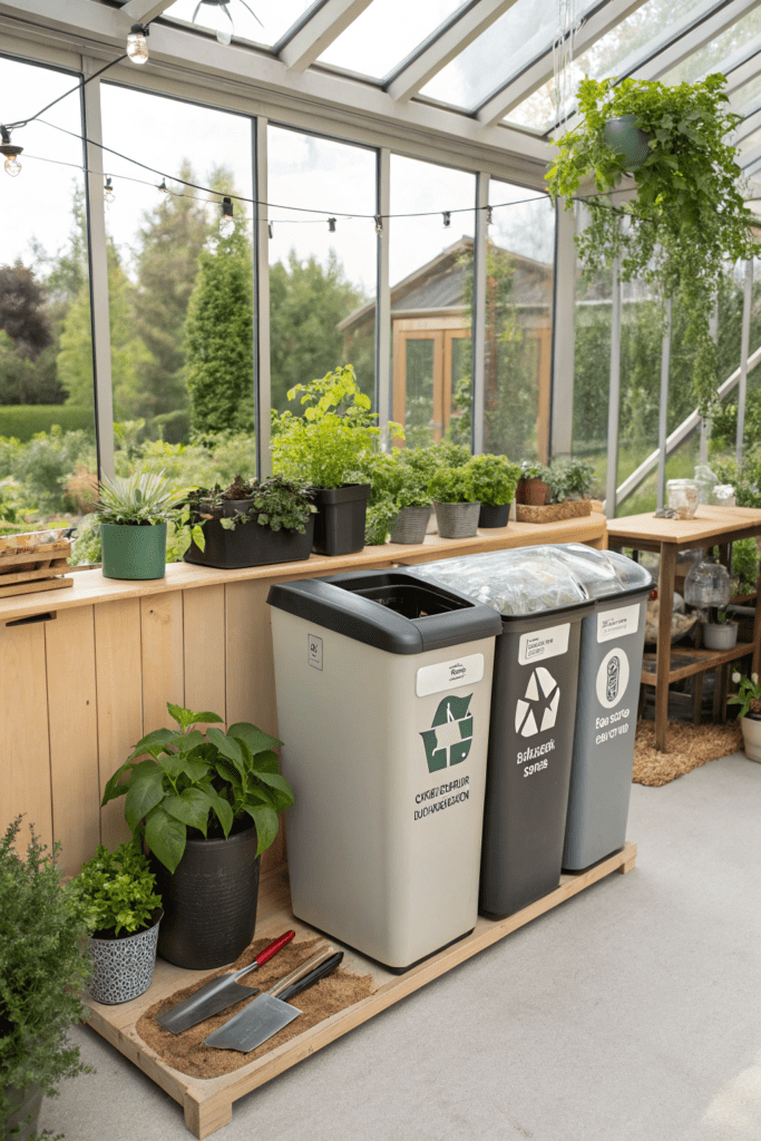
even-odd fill
[{"label": "fourth sloping glass roof panel from left, crossed by hanging planter's wires", "polygon": [[[665,46],[675,33],[685,31],[706,11],[717,7],[717,0],[648,0],[631,13],[597,43],[584,51],[570,65],[572,80],[567,89],[576,91],[578,83],[609,75],[626,75],[634,72],[637,63],[649,57]],[[570,105],[562,108],[567,115]],[[549,130],[558,119],[554,99],[554,81],[550,80],[505,116],[507,123]]]}]

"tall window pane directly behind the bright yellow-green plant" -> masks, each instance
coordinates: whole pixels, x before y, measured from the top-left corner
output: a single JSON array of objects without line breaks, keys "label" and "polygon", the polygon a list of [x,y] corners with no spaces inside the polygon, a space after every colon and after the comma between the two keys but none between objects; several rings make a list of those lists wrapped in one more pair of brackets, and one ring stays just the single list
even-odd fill
[{"label": "tall window pane directly behind the bright yellow-green plant", "polygon": [[[354,365],[372,397],[375,152],[282,127],[269,127],[267,141],[273,407],[340,364]],[[303,205],[325,213],[288,209]]]}]

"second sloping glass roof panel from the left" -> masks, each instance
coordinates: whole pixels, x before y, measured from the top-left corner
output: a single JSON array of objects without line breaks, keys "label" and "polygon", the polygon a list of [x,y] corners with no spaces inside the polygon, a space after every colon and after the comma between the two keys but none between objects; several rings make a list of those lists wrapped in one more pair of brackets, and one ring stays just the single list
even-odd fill
[{"label": "second sloping glass roof panel from the left", "polygon": [[463,0],[373,0],[325,48],[319,63],[383,79],[463,7]]}]

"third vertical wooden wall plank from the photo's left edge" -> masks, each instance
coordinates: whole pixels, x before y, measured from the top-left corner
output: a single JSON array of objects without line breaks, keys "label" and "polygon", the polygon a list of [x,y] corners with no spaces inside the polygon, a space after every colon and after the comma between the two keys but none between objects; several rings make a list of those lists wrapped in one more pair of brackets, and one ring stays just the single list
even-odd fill
[{"label": "third vertical wooden wall plank from the photo's left edge", "polygon": [[[95,607],[95,665],[98,695],[100,799],[106,782],[143,736],[140,600]],[[124,801],[100,809],[100,837],[108,848],[129,840]]]}]

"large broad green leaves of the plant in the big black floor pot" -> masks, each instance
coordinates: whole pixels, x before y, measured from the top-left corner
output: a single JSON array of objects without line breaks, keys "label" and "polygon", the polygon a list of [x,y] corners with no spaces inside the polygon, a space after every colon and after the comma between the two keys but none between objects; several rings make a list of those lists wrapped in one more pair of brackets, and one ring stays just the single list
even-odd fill
[{"label": "large broad green leaves of the plant in the big black floor pot", "polygon": [[[257,855],[277,835],[277,814],[293,803],[293,790],[278,772],[276,737],[246,721],[227,733],[221,718],[167,703],[179,729],[155,729],[108,780],[103,803],[124,796],[124,818],[156,859],[175,872],[188,828],[204,837],[227,837],[249,816],[258,837]],[[201,733],[196,725],[211,728]],[[151,759],[140,760],[144,754]],[[127,775],[127,779],[122,777]],[[145,823],[143,823],[145,822]]]}]

